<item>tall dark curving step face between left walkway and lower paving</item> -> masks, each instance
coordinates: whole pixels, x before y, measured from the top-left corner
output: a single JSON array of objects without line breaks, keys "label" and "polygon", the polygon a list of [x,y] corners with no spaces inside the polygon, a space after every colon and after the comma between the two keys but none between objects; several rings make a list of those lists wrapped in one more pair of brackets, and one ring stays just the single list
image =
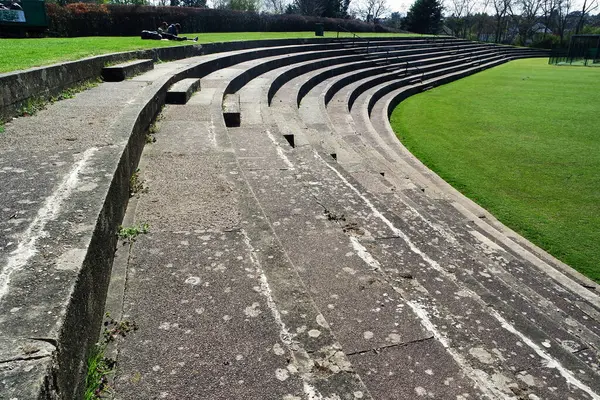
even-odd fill
[{"label": "tall dark curving step face between left walkway and lower paving", "polygon": [[129,179],[140,160],[148,126],[164,104],[169,86],[185,71],[145,88],[115,124],[116,129],[128,133],[128,139],[117,165],[113,165],[110,185],[104,192],[86,256],[68,299],[57,350],[51,369],[46,371],[39,399],[80,398],[85,390],[87,359],[100,334],[116,232],[129,203]]}]

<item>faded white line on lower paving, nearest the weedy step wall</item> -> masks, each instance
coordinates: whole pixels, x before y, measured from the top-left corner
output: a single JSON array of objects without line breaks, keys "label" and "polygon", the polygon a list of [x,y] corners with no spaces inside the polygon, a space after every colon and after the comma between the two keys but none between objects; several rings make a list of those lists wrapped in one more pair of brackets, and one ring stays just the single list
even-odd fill
[{"label": "faded white line on lower paving, nearest the weedy step wall", "polygon": [[[281,313],[275,304],[275,300],[273,299],[273,293],[271,292],[271,287],[269,286],[269,281],[267,280],[267,276],[260,265],[260,260],[256,257],[255,249],[250,243],[250,238],[246,231],[242,230],[242,235],[244,235],[244,243],[246,244],[246,248],[248,249],[248,253],[250,254],[250,261],[254,264],[254,268],[260,277],[260,293],[267,300],[267,307],[271,310],[271,315],[275,322],[279,326],[279,339],[283,342],[283,344],[287,347],[288,352],[293,354],[297,349],[294,349],[294,342],[292,340],[292,335],[290,331],[285,326],[285,323],[281,319]],[[304,394],[306,394],[309,400],[321,400],[323,399],[323,395],[319,393],[319,391],[308,382],[307,378],[304,374],[300,374],[303,381]]]}]

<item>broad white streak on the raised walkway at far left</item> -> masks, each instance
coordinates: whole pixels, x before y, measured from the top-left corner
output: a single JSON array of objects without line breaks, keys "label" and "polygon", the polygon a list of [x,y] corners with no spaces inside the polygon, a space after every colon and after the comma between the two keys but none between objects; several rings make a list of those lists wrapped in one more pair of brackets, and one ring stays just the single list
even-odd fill
[{"label": "broad white streak on the raised walkway at far left", "polygon": [[83,153],[81,159],[75,163],[54,193],[46,198],[34,220],[21,235],[19,245],[10,253],[6,265],[0,271],[0,300],[9,291],[8,284],[10,283],[11,275],[22,269],[29,259],[37,253],[37,241],[47,235],[47,232],[44,231],[46,224],[56,218],[63,202],[71,195],[73,189],[79,183],[79,173],[97,150],[97,148],[92,147]]}]

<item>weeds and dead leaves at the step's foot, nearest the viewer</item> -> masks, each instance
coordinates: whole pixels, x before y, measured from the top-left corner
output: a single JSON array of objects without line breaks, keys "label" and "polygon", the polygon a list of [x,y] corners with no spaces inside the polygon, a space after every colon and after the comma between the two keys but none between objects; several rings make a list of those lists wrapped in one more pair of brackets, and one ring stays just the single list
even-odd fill
[{"label": "weeds and dead leaves at the step's foot, nearest the viewer", "polygon": [[109,378],[114,373],[117,363],[105,356],[106,348],[119,336],[124,338],[137,329],[135,322],[115,321],[109,313],[106,313],[102,338],[96,343],[88,358],[84,400],[99,400],[105,398],[106,394],[110,394]]}]

